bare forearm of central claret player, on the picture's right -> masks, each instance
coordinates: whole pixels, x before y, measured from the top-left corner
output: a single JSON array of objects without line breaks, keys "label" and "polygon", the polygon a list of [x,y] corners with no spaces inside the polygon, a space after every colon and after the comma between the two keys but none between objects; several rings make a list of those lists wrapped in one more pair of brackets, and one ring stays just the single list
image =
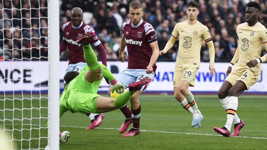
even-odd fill
[{"label": "bare forearm of central claret player, on the picture's right", "polygon": [[147,74],[150,74],[153,72],[153,66],[155,65],[157,58],[159,56],[159,48],[158,48],[157,41],[149,43],[149,45],[152,48],[153,52],[150,58],[149,65],[147,66],[147,70],[146,70]]}]

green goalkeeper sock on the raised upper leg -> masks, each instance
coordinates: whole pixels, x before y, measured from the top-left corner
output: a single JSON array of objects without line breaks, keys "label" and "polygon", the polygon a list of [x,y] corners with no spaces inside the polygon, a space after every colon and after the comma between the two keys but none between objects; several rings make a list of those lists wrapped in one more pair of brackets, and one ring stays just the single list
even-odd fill
[{"label": "green goalkeeper sock on the raised upper leg", "polygon": [[93,51],[91,45],[83,45],[84,60],[89,67],[89,70],[96,71],[100,68],[100,64],[97,61],[96,54]]}]

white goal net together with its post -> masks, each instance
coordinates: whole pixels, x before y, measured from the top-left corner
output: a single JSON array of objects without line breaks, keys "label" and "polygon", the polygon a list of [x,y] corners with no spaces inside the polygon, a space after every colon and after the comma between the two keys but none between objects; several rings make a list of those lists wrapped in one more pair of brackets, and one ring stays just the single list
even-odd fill
[{"label": "white goal net together with its post", "polygon": [[0,0],[0,149],[59,149],[58,14],[56,0]]}]

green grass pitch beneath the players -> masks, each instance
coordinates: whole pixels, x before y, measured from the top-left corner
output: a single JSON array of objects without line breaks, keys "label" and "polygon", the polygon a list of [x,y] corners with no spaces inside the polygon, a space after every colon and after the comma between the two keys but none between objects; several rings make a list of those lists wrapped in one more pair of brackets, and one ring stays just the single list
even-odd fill
[{"label": "green grass pitch beneath the players", "polygon": [[[47,95],[45,95],[47,96]],[[107,95],[105,95],[107,96]],[[15,95],[20,98],[19,95]],[[25,95],[24,95],[25,97]],[[29,96],[27,96],[29,97]],[[33,97],[38,97],[34,95]],[[90,125],[90,119],[83,114],[66,112],[60,118],[60,131],[69,131],[70,138],[65,144],[60,143],[61,150],[102,150],[102,149],[231,149],[231,150],[262,150],[267,149],[267,101],[266,96],[240,96],[238,98],[237,114],[245,122],[244,128],[240,131],[239,137],[225,138],[213,131],[213,127],[223,127],[227,120],[226,112],[221,106],[217,95],[195,95],[198,108],[204,116],[201,122],[201,128],[191,127],[192,115],[189,114],[174,99],[173,95],[141,95],[139,98],[142,106],[140,119],[140,135],[134,137],[122,137],[119,128],[124,121],[124,115],[120,110],[104,113],[103,123],[93,129],[85,130]],[[21,131],[14,130],[15,139],[24,140],[14,141],[17,149],[45,148],[47,138],[39,138],[39,135],[47,137],[45,127],[47,119],[37,119],[47,117],[47,109],[27,109],[31,107],[47,107],[47,99],[42,98],[27,100],[6,100],[2,101],[3,95],[0,95],[0,110],[19,108],[21,110],[5,112],[0,111],[0,119],[14,118],[33,118],[24,119],[23,125],[20,120],[5,121],[5,129],[23,128]],[[6,97],[7,98],[7,97]],[[8,95],[13,99],[13,95]],[[128,103],[130,105],[130,103]],[[5,116],[4,116],[5,113]],[[0,121],[0,126],[4,122]],[[32,131],[28,129],[31,127]],[[130,127],[132,124],[130,125]],[[233,131],[233,125],[232,130]],[[12,133],[12,132],[10,132]],[[232,134],[232,133],[231,133]],[[21,146],[22,145],[22,146]]]}]

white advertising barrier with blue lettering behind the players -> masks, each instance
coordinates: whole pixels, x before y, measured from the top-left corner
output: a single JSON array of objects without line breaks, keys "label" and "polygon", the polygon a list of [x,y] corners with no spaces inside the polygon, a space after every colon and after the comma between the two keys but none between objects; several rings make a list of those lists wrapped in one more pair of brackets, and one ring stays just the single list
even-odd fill
[{"label": "white advertising barrier with blue lettering behind the players", "polygon": [[[47,92],[48,68],[46,61],[31,62],[0,62],[0,92]],[[101,63],[101,62],[100,62]],[[127,68],[127,62],[108,62],[108,68],[114,76]],[[146,92],[173,92],[173,72],[175,62],[157,62],[156,75]],[[229,63],[215,63],[216,75],[209,75],[209,63],[201,62],[201,68],[195,78],[195,87],[189,87],[192,92],[217,92],[226,78],[226,70]],[[14,67],[15,66],[15,67]],[[60,90],[63,91],[63,77],[65,75],[67,61],[60,62]],[[15,69],[13,69],[15,68]],[[267,63],[262,63],[262,71],[259,81],[250,87],[247,92],[267,94]],[[100,84],[99,92],[107,92],[110,85],[105,80]]]}]

